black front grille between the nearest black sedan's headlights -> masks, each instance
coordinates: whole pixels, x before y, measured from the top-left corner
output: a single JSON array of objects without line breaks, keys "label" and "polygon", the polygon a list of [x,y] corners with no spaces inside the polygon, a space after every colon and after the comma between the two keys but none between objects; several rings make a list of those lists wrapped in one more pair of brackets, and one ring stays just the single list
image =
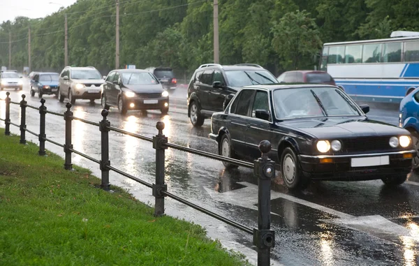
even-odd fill
[{"label": "black front grille between the nearest black sedan's headlights", "polygon": [[368,152],[394,149],[390,147],[387,137],[361,137],[342,140],[342,152]]}]

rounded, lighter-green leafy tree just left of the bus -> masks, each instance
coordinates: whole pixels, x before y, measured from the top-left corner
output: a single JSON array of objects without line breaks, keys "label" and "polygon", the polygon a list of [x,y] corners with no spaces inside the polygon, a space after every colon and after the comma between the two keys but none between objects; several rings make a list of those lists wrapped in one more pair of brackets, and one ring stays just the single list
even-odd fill
[{"label": "rounded, lighter-green leafy tree just left of the bus", "polygon": [[286,68],[307,67],[321,48],[316,22],[306,10],[286,13],[272,27],[272,46]]}]

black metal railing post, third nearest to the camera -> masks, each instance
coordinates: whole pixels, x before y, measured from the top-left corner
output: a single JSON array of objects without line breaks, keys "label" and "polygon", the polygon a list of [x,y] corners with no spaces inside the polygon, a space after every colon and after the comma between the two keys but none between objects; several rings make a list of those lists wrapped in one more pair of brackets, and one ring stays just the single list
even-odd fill
[{"label": "black metal railing post, third nearest to the camera", "polygon": [[108,117],[108,110],[103,109],[103,119],[99,122],[99,130],[101,131],[101,171],[102,171],[102,183],[101,187],[105,191],[109,191],[109,131],[110,121],[106,119]]}]

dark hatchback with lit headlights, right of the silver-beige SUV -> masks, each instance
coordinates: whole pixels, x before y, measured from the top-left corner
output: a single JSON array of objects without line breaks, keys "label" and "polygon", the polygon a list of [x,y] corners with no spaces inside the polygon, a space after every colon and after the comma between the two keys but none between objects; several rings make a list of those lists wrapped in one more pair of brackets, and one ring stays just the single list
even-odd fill
[{"label": "dark hatchback with lit headlights, right of the silver-beige SUV", "polygon": [[121,114],[128,110],[169,111],[169,94],[157,78],[140,69],[111,71],[102,85],[102,108],[116,106]]}]

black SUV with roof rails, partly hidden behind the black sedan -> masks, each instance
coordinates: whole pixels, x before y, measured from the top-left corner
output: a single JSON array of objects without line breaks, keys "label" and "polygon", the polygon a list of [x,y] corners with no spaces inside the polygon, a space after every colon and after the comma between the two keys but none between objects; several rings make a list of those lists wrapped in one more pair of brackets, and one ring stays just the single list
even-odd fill
[{"label": "black SUV with roof rails, partly hidden behind the black sedan", "polygon": [[193,126],[202,126],[212,113],[223,111],[242,87],[272,83],[278,83],[274,75],[256,64],[203,64],[189,82],[188,117]]}]

